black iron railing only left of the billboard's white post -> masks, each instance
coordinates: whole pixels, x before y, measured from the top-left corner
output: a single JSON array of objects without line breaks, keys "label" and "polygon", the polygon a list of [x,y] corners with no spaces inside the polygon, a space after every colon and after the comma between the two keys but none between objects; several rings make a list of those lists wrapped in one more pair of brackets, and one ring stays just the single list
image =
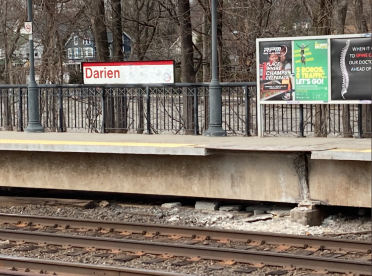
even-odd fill
[{"label": "black iron railing only left of the billboard's white post", "polygon": [[[202,135],[208,128],[208,86],[40,85],[40,121],[48,132]],[[222,97],[227,133],[257,135],[255,83],[222,84]],[[23,131],[27,87],[0,86],[0,100],[0,130]]]}]

